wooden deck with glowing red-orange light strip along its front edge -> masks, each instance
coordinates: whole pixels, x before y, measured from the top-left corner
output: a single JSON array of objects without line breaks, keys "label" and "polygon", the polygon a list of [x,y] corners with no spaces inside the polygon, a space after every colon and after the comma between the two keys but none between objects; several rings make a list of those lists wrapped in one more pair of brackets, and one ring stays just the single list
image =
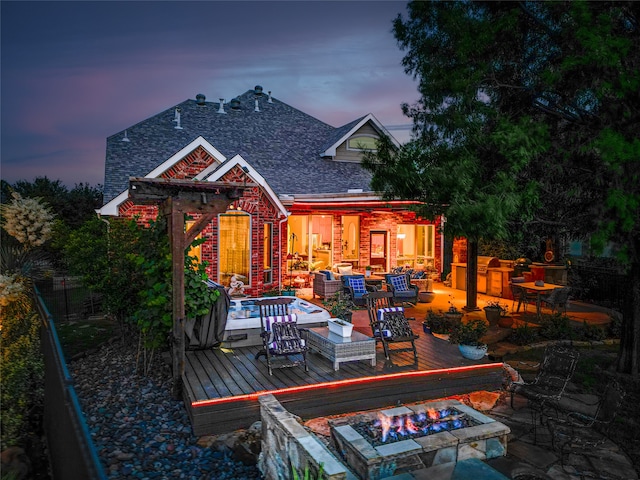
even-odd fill
[{"label": "wooden deck with glowing red-orange light strip along its front edge", "polygon": [[274,369],[272,376],[264,357],[254,358],[259,347],[188,351],[183,396],[194,434],[249,427],[260,419],[258,397],[265,393],[306,420],[502,386],[501,363],[466,360],[456,345],[431,335],[421,334],[416,346],[417,364],[412,353],[391,355],[392,363],[386,362],[378,345],[375,367],[370,361],[348,362],[336,372],[329,360],[310,353],[309,372]]}]

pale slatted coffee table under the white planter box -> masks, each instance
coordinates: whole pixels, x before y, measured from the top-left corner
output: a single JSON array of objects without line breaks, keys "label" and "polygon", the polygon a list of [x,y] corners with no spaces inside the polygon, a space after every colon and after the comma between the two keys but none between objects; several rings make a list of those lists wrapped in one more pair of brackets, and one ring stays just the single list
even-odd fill
[{"label": "pale slatted coffee table under the white planter box", "polygon": [[376,341],[371,337],[355,331],[351,337],[341,337],[327,327],[309,328],[307,332],[309,349],[331,360],[336,371],[340,363],[354,360],[371,360],[371,366],[376,365]]}]

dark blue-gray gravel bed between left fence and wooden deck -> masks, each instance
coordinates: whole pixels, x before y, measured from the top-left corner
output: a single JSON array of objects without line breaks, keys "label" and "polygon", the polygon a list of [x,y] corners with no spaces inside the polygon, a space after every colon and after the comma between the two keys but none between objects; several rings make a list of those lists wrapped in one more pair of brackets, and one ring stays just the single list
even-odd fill
[{"label": "dark blue-gray gravel bed between left fence and wooden deck", "polygon": [[255,466],[197,444],[181,401],[171,397],[171,370],[135,373],[136,348],[113,343],[69,365],[108,478],[261,479]]}]

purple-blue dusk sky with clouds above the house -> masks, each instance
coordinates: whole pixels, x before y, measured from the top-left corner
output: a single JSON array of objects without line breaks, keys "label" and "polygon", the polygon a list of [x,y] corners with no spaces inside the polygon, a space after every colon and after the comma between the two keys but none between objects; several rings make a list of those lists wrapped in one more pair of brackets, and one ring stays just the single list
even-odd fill
[{"label": "purple-blue dusk sky with clouds above the house", "polygon": [[417,83],[391,28],[406,4],[3,0],[0,177],[102,184],[108,136],[255,85],[335,127],[404,125],[404,141]]}]

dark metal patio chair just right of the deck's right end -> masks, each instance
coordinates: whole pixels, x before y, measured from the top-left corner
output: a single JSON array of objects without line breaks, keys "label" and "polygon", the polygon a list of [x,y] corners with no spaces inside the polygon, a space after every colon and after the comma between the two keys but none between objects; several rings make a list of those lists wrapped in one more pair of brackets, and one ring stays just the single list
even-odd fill
[{"label": "dark metal patio chair just right of the deck's right end", "polygon": [[[513,397],[517,393],[525,397],[531,408],[533,438],[535,442],[538,415],[549,404],[558,402],[564,394],[567,384],[578,364],[580,354],[574,348],[564,345],[549,345],[545,349],[535,379],[530,383],[512,383],[508,389]],[[542,421],[542,418],[540,418]]]}]

